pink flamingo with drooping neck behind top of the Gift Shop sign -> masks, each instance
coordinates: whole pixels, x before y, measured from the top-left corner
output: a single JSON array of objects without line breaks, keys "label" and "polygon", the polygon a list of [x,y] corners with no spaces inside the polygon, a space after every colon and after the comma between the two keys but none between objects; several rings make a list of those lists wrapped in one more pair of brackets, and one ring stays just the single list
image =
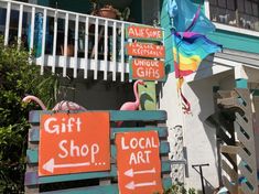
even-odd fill
[{"label": "pink flamingo with drooping neck behind top of the Gift Shop sign", "polygon": [[[35,96],[29,95],[29,96],[24,97],[22,99],[22,101],[24,101],[24,103],[35,101],[41,106],[41,108],[43,110],[46,110],[46,106],[42,103],[41,99],[39,99]],[[82,107],[80,105],[77,105],[76,103],[62,100],[58,104],[56,104],[52,110],[54,110],[54,111],[57,111],[57,110],[69,111],[69,110],[87,110],[87,109],[85,107]]]}]

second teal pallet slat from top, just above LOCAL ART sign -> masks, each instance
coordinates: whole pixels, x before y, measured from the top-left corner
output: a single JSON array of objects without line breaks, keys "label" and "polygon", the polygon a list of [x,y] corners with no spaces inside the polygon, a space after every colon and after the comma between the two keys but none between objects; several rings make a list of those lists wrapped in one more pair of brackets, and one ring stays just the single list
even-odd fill
[{"label": "second teal pallet slat from top, just above LOCAL ART sign", "polygon": [[[111,140],[115,139],[116,132],[153,131],[153,130],[159,132],[160,138],[165,138],[169,134],[166,127],[111,128],[110,139]],[[29,141],[34,143],[40,141],[40,127],[34,127],[33,129],[30,130]]]}]

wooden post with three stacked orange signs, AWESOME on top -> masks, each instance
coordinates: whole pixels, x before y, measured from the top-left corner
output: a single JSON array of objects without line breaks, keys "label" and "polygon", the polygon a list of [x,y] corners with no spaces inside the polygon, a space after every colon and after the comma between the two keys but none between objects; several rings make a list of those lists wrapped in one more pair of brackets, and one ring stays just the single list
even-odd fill
[{"label": "wooden post with three stacked orange signs, AWESOME on top", "polygon": [[131,40],[127,44],[127,54],[130,56],[130,79],[145,80],[145,88],[138,86],[140,109],[155,110],[155,82],[165,80],[165,47],[163,45],[163,31],[157,28],[129,25],[126,37]]}]

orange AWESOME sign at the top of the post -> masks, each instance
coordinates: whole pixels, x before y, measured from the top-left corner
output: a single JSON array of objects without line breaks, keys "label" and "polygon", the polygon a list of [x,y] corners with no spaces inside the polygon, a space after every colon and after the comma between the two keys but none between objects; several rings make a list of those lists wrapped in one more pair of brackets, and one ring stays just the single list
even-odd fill
[{"label": "orange AWESOME sign at the top of the post", "polygon": [[150,41],[162,41],[163,32],[161,29],[130,25],[127,28],[126,37],[150,40]]}]

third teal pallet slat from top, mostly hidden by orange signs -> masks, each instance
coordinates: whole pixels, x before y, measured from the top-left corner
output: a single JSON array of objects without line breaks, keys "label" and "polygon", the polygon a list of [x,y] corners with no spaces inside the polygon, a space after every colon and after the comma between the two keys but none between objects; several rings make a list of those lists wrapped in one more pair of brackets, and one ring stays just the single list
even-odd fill
[{"label": "third teal pallet slat from top, mostly hidden by orange signs", "polygon": [[[111,163],[116,163],[117,161],[117,148],[115,144],[110,147],[110,154],[111,154]],[[170,152],[170,144],[169,142],[160,142],[160,154],[164,155]],[[26,159],[29,164],[37,164],[39,162],[39,150],[26,150]]]}]

